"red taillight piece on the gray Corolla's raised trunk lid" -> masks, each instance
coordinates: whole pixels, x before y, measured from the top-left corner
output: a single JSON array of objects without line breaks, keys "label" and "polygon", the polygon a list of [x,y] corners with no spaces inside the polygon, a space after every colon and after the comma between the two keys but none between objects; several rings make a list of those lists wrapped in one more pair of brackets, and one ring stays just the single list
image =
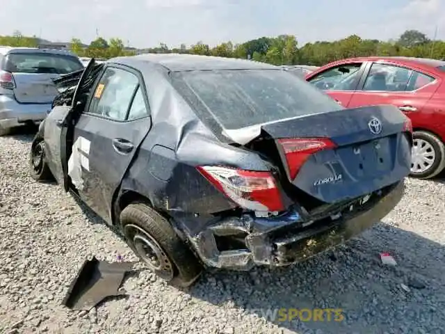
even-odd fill
[{"label": "red taillight piece on the gray Corolla's raised trunk lid", "polygon": [[291,180],[295,179],[301,166],[312,154],[337,147],[329,138],[286,138],[279,139],[278,143],[284,150]]}]

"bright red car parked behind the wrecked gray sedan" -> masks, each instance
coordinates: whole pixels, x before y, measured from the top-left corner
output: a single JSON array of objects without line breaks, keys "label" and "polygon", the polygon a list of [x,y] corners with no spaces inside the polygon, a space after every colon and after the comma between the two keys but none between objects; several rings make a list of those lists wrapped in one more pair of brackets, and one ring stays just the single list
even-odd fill
[{"label": "bright red car parked behind the wrecked gray sedan", "polygon": [[412,121],[411,176],[435,177],[445,168],[445,61],[407,57],[349,58],[305,79],[354,108],[394,104]]}]

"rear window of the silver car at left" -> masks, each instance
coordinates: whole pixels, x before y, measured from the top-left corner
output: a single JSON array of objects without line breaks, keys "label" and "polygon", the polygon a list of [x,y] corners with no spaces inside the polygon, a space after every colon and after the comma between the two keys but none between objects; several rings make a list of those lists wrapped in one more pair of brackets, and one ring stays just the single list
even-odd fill
[{"label": "rear window of the silver car at left", "polygon": [[75,56],[24,52],[8,54],[1,67],[12,73],[67,74],[81,70],[83,65]]}]

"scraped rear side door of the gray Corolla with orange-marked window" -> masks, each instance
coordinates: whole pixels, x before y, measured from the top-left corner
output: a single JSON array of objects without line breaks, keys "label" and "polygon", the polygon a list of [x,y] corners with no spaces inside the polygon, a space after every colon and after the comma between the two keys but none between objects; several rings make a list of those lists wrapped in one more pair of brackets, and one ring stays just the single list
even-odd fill
[{"label": "scraped rear side door of the gray Corolla with orange-marked window", "polygon": [[142,75],[107,65],[74,129],[68,171],[81,198],[108,223],[115,190],[151,125]]}]

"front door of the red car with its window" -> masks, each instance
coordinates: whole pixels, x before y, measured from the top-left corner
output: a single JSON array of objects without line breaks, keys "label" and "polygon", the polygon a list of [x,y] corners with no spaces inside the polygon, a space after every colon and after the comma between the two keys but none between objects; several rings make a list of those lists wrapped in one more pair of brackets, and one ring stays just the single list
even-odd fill
[{"label": "front door of the red car with its window", "polygon": [[366,62],[343,63],[309,76],[307,81],[324,90],[342,106],[348,106],[359,80],[362,77]]}]

